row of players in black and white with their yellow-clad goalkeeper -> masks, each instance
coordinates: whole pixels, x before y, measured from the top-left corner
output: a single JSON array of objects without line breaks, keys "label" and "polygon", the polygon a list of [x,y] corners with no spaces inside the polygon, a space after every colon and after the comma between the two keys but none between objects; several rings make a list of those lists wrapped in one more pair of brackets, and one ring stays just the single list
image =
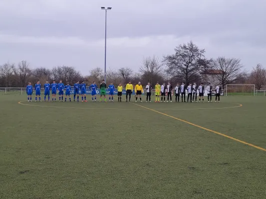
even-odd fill
[{"label": "row of players in black and white with their yellow-clad goalkeeper", "polygon": [[[146,86],[146,90],[147,93],[149,92],[149,84]],[[155,102],[160,102],[160,96],[161,96],[161,102],[164,101],[165,102],[165,98],[167,95],[167,102],[170,101],[172,102],[172,90],[173,87],[170,84],[170,82],[168,83],[167,86],[165,86],[165,83],[163,85],[159,85],[159,83],[157,82],[156,86],[155,86]],[[186,102],[186,90],[188,92],[188,98],[187,101],[190,100],[190,102],[193,102],[194,99],[197,101],[197,95],[198,95],[198,91],[199,91],[199,101],[204,102],[204,93],[205,93],[205,88],[203,86],[203,83],[201,83],[201,85],[198,87],[196,83],[194,83],[194,85],[192,86],[192,84],[190,83],[188,87],[185,86],[185,83],[183,82],[181,86],[179,86],[179,84],[177,84],[177,86],[175,87],[175,97],[176,97],[176,102],[179,102],[180,100],[180,95],[181,95],[181,100],[183,102],[183,97],[184,97],[184,102]],[[215,92],[216,92],[216,101],[218,99],[218,102],[220,102],[220,95],[222,93],[222,88],[220,86],[217,86],[215,88]],[[208,94],[208,102],[212,102],[212,86],[209,83],[209,85],[207,86],[207,94]],[[148,94],[149,95],[149,94]],[[147,101],[148,101],[148,95],[147,95]]]}]

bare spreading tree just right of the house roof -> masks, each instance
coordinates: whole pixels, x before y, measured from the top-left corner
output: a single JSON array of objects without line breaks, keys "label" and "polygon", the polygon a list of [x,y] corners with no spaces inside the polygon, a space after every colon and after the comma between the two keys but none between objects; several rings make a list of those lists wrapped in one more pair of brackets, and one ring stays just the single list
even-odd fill
[{"label": "bare spreading tree just right of the house roof", "polygon": [[241,60],[237,58],[218,57],[211,60],[212,70],[217,70],[215,74],[220,84],[225,88],[225,85],[232,84],[243,77],[243,65]]}]

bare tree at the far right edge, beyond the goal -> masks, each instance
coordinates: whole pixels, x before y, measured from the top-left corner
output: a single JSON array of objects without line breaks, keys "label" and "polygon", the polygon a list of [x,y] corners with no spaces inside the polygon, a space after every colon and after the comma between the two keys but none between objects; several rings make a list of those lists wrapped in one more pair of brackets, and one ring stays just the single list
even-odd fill
[{"label": "bare tree at the far right edge, beyond the goal", "polygon": [[258,90],[261,90],[263,85],[266,85],[266,69],[261,64],[257,64],[251,72],[251,82],[256,85]]}]

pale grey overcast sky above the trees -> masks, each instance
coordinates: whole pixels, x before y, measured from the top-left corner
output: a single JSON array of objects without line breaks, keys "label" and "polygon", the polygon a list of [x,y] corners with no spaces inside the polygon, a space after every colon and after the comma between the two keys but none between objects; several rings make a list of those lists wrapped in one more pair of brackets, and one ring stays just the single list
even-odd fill
[{"label": "pale grey overcast sky above the trees", "polygon": [[207,58],[266,66],[266,0],[0,0],[0,64],[74,66],[82,74],[141,65],[192,40]]}]

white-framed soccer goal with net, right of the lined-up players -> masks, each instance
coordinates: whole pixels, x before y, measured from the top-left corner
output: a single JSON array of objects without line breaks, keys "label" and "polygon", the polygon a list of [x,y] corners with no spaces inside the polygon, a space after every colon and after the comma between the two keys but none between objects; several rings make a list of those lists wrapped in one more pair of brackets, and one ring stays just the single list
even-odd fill
[{"label": "white-framed soccer goal with net, right of the lined-up players", "polygon": [[255,85],[226,85],[226,96],[255,96]]}]

